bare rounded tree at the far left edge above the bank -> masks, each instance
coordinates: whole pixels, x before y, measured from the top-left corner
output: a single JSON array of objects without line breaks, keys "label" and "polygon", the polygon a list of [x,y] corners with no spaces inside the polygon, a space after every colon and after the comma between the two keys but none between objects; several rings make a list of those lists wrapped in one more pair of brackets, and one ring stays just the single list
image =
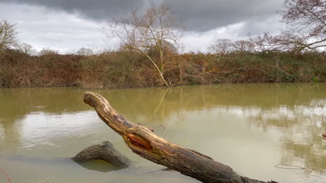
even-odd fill
[{"label": "bare rounded tree at the far left edge above the bank", "polygon": [[10,24],[6,19],[0,19],[0,50],[8,49],[17,44],[16,24]]}]

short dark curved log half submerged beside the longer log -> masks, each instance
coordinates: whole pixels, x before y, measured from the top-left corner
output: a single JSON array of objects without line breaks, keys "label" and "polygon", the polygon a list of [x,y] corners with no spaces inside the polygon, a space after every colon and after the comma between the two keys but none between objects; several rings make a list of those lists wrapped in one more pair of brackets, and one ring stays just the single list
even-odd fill
[{"label": "short dark curved log half submerged beside the longer log", "polygon": [[119,153],[109,141],[89,146],[72,157],[75,162],[87,162],[94,159],[102,159],[117,168],[127,168],[133,164],[130,159]]}]

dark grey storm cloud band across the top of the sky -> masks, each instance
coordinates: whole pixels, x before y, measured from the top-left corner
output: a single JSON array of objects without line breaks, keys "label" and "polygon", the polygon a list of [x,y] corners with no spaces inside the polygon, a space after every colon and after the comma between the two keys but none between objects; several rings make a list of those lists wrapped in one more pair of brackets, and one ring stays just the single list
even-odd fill
[{"label": "dark grey storm cloud band across the top of the sky", "polygon": [[[77,13],[95,21],[107,21],[135,9],[162,3],[161,0],[0,0],[44,6],[54,10]],[[176,17],[185,24],[185,30],[204,32],[238,22],[254,21],[275,16],[281,9],[281,0],[168,0]]]}]

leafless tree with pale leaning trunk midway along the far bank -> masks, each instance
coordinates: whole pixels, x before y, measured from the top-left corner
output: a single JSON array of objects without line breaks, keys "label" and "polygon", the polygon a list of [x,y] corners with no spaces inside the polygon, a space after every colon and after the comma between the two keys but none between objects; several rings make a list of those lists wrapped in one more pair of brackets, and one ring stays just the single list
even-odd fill
[{"label": "leafless tree with pale leaning trunk midway along the far bank", "polygon": [[143,54],[155,67],[164,85],[170,87],[164,78],[164,72],[169,64],[171,48],[179,48],[179,26],[169,6],[163,3],[160,6],[151,6],[143,13],[135,11],[126,17],[113,19],[113,23],[104,28],[104,32],[108,37],[118,37],[123,49],[132,49]]}]

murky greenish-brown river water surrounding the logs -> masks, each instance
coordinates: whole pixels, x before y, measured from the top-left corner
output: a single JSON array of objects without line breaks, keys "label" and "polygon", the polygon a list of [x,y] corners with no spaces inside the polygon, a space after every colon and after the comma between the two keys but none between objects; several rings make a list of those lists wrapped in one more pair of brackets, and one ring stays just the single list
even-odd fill
[{"label": "murky greenish-brown river water surrounding the logs", "polygon": [[[8,171],[13,182],[47,177],[47,182],[197,182],[157,171],[162,167],[131,153],[121,137],[83,103],[84,92],[0,89],[0,168]],[[130,121],[150,125],[169,141],[207,154],[238,173],[279,182],[326,179],[326,141],[320,138],[326,132],[326,83],[93,92],[106,97]],[[55,160],[105,140],[140,167],[103,173],[112,167]],[[58,163],[47,163],[53,161]]]}]

